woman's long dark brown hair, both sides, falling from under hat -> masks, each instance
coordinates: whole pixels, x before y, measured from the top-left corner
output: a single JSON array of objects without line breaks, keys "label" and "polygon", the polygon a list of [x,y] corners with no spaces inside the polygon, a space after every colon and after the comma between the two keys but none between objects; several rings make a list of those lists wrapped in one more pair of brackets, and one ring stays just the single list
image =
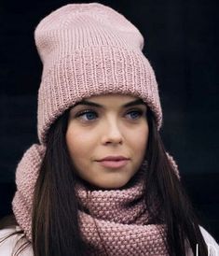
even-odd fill
[{"label": "woman's long dark brown hair, both sides, falling from under hat", "polygon": [[[34,256],[81,256],[86,245],[80,233],[75,196],[75,168],[65,142],[68,110],[48,131],[47,150],[34,188],[32,235]],[[198,219],[171,165],[148,108],[149,138],[145,206],[151,222],[166,225],[163,237],[171,256],[185,255],[185,241],[193,253],[207,256]],[[154,201],[157,199],[157,206]],[[107,251],[106,255],[107,255]]]}]

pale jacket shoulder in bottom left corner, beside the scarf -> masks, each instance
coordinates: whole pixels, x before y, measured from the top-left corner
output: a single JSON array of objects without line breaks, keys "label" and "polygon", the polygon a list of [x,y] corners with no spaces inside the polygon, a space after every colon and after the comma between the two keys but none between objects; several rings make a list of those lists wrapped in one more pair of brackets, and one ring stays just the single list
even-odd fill
[{"label": "pale jacket shoulder in bottom left corner, beside the scarf", "polygon": [[[0,230],[0,255],[11,256],[13,251],[19,249],[22,244],[27,244],[26,238],[21,238],[21,234],[14,234],[20,231],[19,226],[11,226]],[[14,235],[13,235],[14,234]],[[21,256],[33,256],[33,249],[30,245],[23,249]]]}]

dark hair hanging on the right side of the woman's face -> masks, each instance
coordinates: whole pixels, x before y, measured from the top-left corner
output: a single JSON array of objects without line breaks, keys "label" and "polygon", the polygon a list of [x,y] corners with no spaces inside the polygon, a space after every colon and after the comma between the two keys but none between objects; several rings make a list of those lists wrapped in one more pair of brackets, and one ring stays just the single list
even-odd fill
[{"label": "dark hair hanging on the right side of the woman's face", "polygon": [[[148,111],[149,138],[146,151],[148,172],[145,204],[155,222],[167,227],[167,249],[172,256],[185,255],[185,241],[194,255],[207,256],[207,246],[200,233],[198,218],[175,168],[170,163],[152,112]],[[158,200],[158,209],[153,207]],[[162,214],[160,214],[162,213]]]}]

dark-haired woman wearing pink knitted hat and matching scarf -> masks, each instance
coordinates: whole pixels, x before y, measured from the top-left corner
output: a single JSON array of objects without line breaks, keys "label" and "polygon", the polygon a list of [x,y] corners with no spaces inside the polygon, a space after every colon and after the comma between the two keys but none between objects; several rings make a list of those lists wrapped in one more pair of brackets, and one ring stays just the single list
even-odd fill
[{"label": "dark-haired woman wearing pink knitted hat and matching scarf", "polygon": [[110,7],[73,4],[34,36],[40,143],[18,165],[0,254],[217,255],[159,136],[140,32]]}]

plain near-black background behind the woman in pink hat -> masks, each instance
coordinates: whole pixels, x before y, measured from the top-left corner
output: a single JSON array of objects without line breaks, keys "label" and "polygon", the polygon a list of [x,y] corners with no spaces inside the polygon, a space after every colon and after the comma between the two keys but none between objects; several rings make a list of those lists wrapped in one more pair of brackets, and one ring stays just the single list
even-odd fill
[{"label": "plain near-black background behind the woman in pink hat", "polygon": [[[42,64],[34,28],[52,10],[90,1],[0,2],[0,217],[11,212],[15,169],[36,136]],[[218,0],[97,1],[142,32],[157,75],[166,149],[200,223],[219,240]]]}]

